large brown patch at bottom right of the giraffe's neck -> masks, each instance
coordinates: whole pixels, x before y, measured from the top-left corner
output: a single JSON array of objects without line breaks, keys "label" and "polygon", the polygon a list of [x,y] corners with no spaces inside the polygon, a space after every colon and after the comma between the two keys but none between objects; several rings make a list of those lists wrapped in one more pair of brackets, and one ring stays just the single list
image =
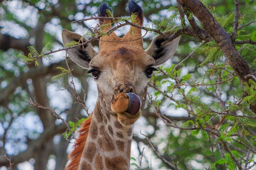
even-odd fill
[{"label": "large brown patch at bottom right of the giraffe's neck", "polygon": [[126,169],[125,166],[128,162],[121,156],[116,156],[114,158],[105,158],[105,165],[107,169]]}]

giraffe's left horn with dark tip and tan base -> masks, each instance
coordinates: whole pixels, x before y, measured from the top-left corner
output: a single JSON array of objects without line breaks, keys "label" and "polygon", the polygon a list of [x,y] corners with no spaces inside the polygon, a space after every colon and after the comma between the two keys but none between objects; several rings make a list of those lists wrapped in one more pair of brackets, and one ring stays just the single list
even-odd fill
[{"label": "giraffe's left horn with dark tip and tan base", "polygon": [[[109,17],[108,11],[112,14],[112,10],[108,4],[102,3],[98,8],[98,16],[99,17]],[[106,33],[108,30],[112,28],[112,20],[111,19],[99,19],[100,25],[100,33]],[[118,38],[118,36],[112,32],[110,35],[104,35],[100,38],[100,44],[104,44],[104,41],[114,41]]]}]

